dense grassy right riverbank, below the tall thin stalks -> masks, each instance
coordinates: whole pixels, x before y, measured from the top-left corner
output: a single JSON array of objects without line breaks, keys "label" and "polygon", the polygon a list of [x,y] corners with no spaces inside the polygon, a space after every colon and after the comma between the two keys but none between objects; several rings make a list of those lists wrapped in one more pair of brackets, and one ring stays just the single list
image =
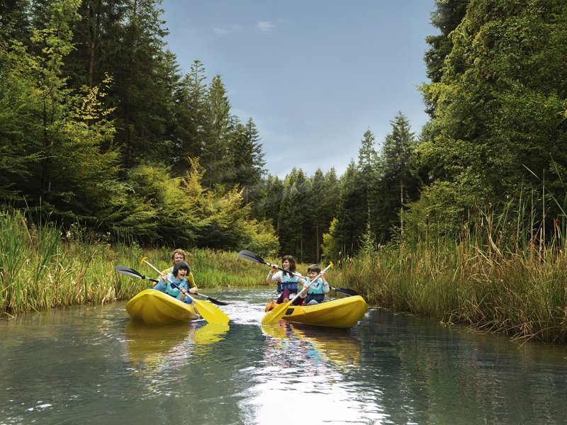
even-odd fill
[{"label": "dense grassy right riverbank, below the tall thin stalks", "polygon": [[370,305],[517,341],[567,344],[567,261],[544,250],[500,254],[478,246],[382,247],[333,275]]}]

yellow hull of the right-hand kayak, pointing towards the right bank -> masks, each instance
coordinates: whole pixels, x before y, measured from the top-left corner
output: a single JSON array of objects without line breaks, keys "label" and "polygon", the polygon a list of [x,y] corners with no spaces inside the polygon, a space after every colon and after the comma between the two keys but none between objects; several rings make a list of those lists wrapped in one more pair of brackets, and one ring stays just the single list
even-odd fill
[{"label": "yellow hull of the right-hand kayak, pointing towards the right bank", "polygon": [[364,317],[368,306],[360,295],[315,305],[291,305],[283,319],[328,327],[352,327]]}]

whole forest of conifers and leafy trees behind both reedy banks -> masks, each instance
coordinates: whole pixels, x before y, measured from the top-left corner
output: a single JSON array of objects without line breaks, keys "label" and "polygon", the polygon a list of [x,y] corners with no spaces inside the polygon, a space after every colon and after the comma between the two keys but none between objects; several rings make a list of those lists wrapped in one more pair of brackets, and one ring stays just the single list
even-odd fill
[{"label": "whole forest of conifers and leafy trees behind both reedy banks", "polygon": [[4,209],[110,239],[304,262],[455,241],[493,217],[488,239],[503,246],[564,244],[567,2],[435,5],[419,134],[400,111],[384,140],[344,141],[359,155],[342,176],[280,179],[222,76],[208,81],[199,60],[181,72],[159,0],[4,1]]}]

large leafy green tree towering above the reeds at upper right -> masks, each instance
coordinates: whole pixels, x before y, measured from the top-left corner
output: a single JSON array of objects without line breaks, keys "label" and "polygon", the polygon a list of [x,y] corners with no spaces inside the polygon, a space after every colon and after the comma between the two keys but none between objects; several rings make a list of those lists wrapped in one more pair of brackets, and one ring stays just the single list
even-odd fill
[{"label": "large leafy green tree towering above the reeds at upper right", "polygon": [[442,208],[496,205],[544,173],[547,191],[560,185],[551,161],[567,164],[566,16],[563,1],[468,4],[442,77],[424,86],[434,113],[418,152],[432,189],[451,193]]}]

